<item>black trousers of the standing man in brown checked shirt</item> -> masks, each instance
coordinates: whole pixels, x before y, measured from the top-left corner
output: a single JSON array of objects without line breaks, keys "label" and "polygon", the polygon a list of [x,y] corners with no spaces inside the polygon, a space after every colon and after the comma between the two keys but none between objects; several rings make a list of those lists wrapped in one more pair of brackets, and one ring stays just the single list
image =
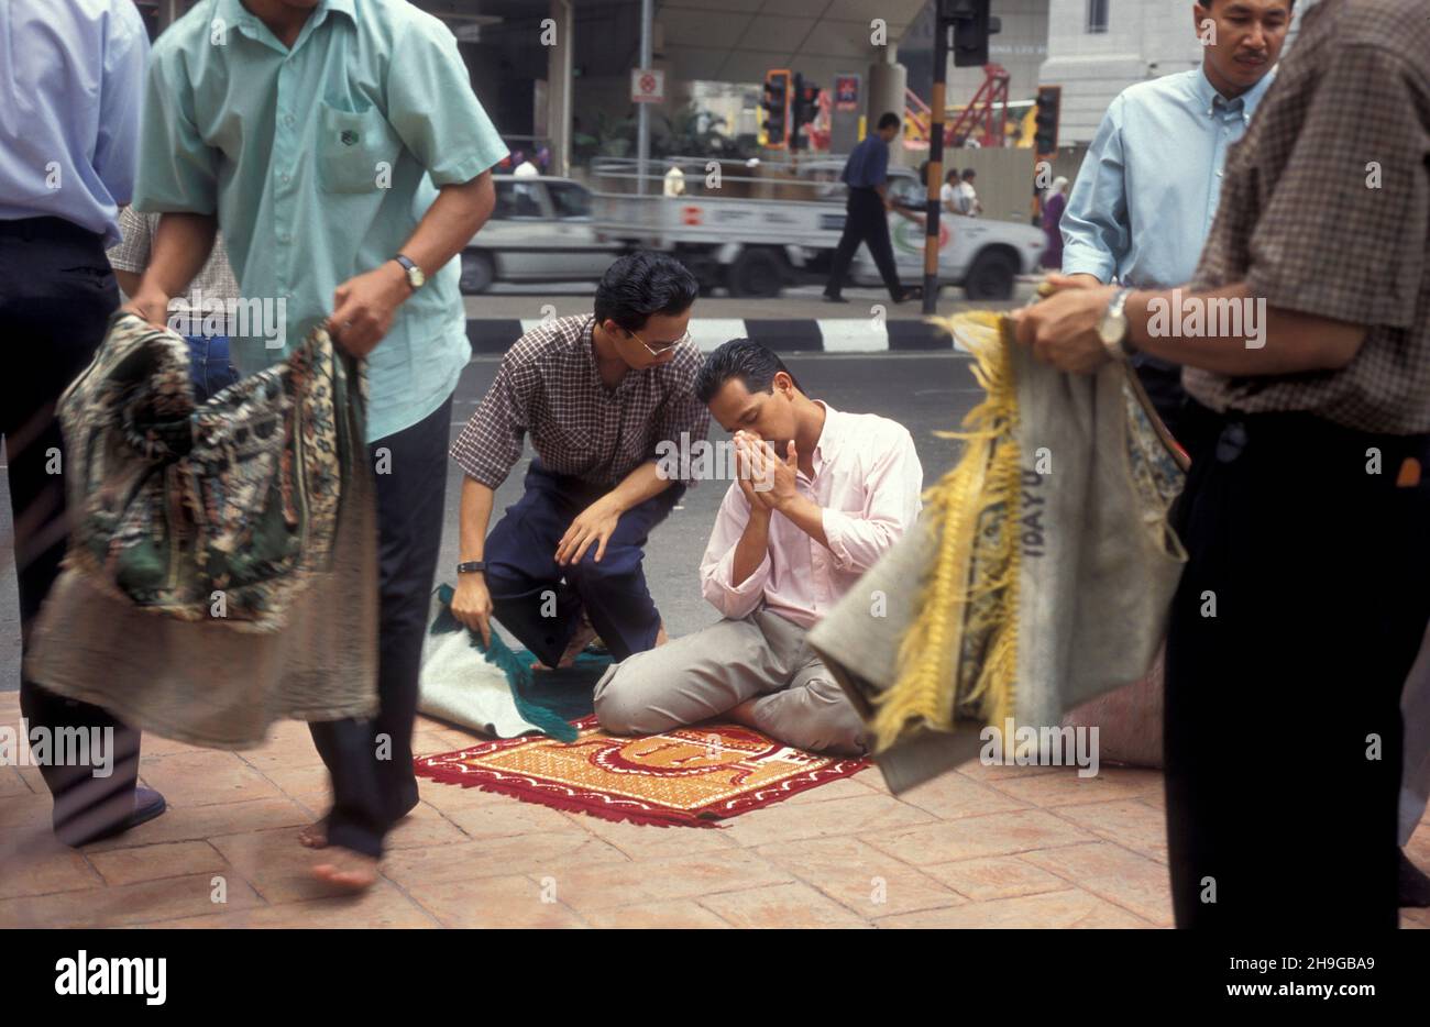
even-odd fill
[{"label": "black trousers of the standing man in brown checked shirt", "polygon": [[[1430,616],[1430,436],[1188,402],[1181,439],[1190,562],[1164,727],[1177,925],[1394,928],[1399,704]],[[1419,485],[1397,485],[1407,459]]]}]

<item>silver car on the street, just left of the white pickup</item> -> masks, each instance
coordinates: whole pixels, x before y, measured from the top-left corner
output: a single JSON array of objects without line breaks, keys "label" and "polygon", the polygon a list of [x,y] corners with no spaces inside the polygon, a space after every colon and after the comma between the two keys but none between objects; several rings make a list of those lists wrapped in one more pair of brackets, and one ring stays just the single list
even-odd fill
[{"label": "silver car on the street, just left of the white pickup", "polygon": [[558,177],[493,175],[496,209],[462,250],[462,292],[493,282],[586,282],[605,275],[621,253],[599,243],[591,190]]}]

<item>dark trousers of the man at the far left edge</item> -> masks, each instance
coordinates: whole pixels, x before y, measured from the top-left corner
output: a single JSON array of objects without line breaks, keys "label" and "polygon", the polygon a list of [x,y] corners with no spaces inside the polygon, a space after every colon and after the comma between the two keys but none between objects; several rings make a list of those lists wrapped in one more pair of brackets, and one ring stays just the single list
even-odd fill
[{"label": "dark trousers of the man at the far left edge", "polygon": [[[119,288],[103,239],[57,217],[0,222],[0,433],[14,512],[21,648],[64,556],[64,439],[54,416],[60,393],[94,356]],[[83,625],[82,625],[83,629]],[[139,732],[87,702],[74,702],[20,678],[27,727],[113,731],[113,770],[47,765],[54,834],[79,845],[134,811]]]}]

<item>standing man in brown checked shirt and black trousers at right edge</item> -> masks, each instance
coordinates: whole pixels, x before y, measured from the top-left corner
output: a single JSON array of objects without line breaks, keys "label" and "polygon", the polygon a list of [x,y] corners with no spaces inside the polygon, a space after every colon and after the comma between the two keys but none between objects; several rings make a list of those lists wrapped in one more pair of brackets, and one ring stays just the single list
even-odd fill
[{"label": "standing man in brown checked shirt and black trousers at right edge", "polygon": [[[1174,160],[1174,154],[1167,154]],[[1323,0],[1227,160],[1195,280],[1020,316],[1185,368],[1167,639],[1177,924],[1396,927],[1400,691],[1430,619],[1430,10]]]}]

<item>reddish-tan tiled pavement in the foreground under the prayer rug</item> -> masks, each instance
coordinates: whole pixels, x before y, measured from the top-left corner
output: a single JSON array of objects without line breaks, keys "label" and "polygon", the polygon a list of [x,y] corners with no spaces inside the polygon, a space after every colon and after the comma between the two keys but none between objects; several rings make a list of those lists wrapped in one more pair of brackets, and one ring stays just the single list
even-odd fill
[{"label": "reddish-tan tiled pavement in the foreground under the prayer rug", "polygon": [[[17,719],[16,694],[0,694],[0,724]],[[470,741],[422,721],[416,748]],[[146,737],[142,777],[169,812],[74,851],[50,838],[39,771],[0,767],[0,927],[1171,924],[1161,775],[1144,770],[970,765],[894,798],[871,768],[724,830],[612,824],[423,780],[360,898],[307,877],[296,832],[327,785],[305,725],[246,754]],[[1411,854],[1430,864],[1430,820]]]}]

